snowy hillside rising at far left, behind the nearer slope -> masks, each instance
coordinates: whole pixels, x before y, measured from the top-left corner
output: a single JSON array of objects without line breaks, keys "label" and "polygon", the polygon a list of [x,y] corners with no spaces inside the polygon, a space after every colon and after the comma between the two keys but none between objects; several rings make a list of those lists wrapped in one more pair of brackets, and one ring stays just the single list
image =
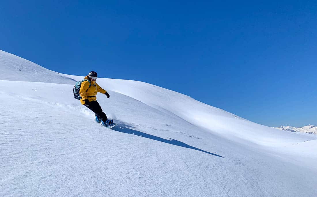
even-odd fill
[{"label": "snowy hillside rising at far left, behind the nearer slope", "polygon": [[36,63],[0,50],[0,70],[5,73],[1,77],[12,81],[34,81],[59,84],[73,84],[74,79],[48,70]]}]

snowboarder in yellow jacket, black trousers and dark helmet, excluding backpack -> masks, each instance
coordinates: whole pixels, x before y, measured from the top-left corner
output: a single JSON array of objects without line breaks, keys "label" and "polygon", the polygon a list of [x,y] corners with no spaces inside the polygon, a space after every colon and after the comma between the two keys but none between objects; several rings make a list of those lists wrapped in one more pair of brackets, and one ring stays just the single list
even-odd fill
[{"label": "snowboarder in yellow jacket, black trousers and dark helmet, excluding backpack", "polygon": [[87,108],[89,108],[91,111],[95,113],[96,121],[97,123],[102,123],[104,126],[108,126],[113,123],[113,120],[108,120],[106,114],[102,111],[99,103],[96,100],[97,92],[103,93],[107,96],[107,98],[110,97],[108,92],[104,89],[102,89],[97,83],[97,73],[94,71],[89,72],[89,74],[85,77],[85,79],[81,83],[81,87],[79,90],[79,94],[81,96],[81,104],[85,105]]}]

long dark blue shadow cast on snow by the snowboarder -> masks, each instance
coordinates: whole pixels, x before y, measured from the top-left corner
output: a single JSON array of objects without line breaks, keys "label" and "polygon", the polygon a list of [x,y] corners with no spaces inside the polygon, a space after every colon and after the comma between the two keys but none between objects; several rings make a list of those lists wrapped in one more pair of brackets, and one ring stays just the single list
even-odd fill
[{"label": "long dark blue shadow cast on snow by the snowboarder", "polygon": [[188,145],[188,144],[186,144],[184,142],[181,142],[181,141],[178,141],[178,140],[175,140],[175,139],[172,139],[172,138],[164,139],[164,138],[161,138],[161,137],[157,137],[157,136],[153,136],[153,135],[150,135],[150,134],[147,134],[147,133],[143,133],[141,131],[130,129],[128,127],[131,127],[131,126],[125,125],[125,124],[118,124],[117,126],[113,127],[112,130],[119,131],[119,132],[122,132],[122,133],[133,134],[133,135],[140,136],[140,137],[146,137],[146,138],[149,138],[149,139],[152,139],[152,140],[156,140],[156,141],[172,144],[172,145],[175,145],[175,146],[181,146],[181,147],[184,147],[184,148],[199,150],[201,152],[208,153],[210,155],[214,155],[214,156],[218,156],[218,157],[224,158],[223,156],[220,156],[220,155],[217,155],[217,154],[214,154],[214,153],[210,153],[210,152],[207,152],[207,151],[202,150],[202,149],[198,149],[196,147],[190,146],[190,145]]}]

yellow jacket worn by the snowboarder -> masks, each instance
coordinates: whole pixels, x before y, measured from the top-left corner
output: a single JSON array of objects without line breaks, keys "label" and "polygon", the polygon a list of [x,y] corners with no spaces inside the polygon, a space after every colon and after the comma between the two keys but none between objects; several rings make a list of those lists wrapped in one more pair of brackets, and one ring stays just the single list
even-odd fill
[{"label": "yellow jacket worn by the snowboarder", "polygon": [[[88,79],[88,75],[85,77],[85,79]],[[89,79],[88,79],[89,80]],[[96,100],[97,92],[106,93],[107,91],[102,89],[95,81],[90,81],[91,85],[89,87],[89,81],[83,81],[80,86],[79,94],[81,96],[81,104],[85,104],[85,99],[88,99],[89,101]]]}]

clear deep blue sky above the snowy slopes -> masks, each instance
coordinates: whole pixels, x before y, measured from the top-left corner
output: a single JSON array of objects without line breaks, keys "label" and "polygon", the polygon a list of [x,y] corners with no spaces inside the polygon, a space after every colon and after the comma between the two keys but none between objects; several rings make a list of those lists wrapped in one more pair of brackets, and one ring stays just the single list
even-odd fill
[{"label": "clear deep blue sky above the snowy slopes", "polygon": [[1,50],[60,73],[148,82],[268,126],[317,125],[316,27],[316,1],[0,5]]}]

